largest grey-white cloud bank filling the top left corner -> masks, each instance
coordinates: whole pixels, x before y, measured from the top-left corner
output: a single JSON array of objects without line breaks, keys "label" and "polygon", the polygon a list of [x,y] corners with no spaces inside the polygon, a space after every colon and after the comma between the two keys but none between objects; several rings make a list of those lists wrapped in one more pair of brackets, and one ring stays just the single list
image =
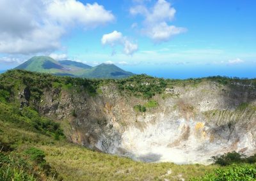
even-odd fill
[{"label": "largest grey-white cloud bank filling the top left corner", "polygon": [[0,1],[0,53],[36,54],[61,48],[61,37],[76,25],[89,29],[112,22],[110,11],[77,0]]}]

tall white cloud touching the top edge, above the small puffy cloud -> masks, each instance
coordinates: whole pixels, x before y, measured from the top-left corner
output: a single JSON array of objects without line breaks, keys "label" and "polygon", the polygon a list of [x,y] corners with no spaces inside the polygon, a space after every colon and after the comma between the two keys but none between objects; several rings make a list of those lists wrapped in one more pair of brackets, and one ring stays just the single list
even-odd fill
[{"label": "tall white cloud touching the top edge, above the small puffy cloud", "polygon": [[176,10],[165,0],[158,0],[152,8],[139,4],[130,8],[130,13],[145,18],[142,32],[155,43],[169,41],[172,36],[186,32],[184,27],[168,24],[175,17]]}]

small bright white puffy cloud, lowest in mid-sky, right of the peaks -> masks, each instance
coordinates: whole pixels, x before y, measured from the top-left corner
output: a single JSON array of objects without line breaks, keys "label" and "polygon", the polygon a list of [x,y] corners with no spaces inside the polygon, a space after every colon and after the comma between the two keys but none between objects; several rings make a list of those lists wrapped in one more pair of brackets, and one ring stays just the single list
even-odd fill
[{"label": "small bright white puffy cloud, lowest in mid-sky, right of the peaks", "polygon": [[134,52],[138,50],[138,45],[136,43],[132,43],[127,39],[126,36],[123,36],[122,33],[118,31],[113,31],[109,34],[104,34],[101,38],[102,45],[109,45],[113,48],[112,54],[115,54],[115,47],[117,45],[121,45],[124,47],[124,54],[132,55]]}]

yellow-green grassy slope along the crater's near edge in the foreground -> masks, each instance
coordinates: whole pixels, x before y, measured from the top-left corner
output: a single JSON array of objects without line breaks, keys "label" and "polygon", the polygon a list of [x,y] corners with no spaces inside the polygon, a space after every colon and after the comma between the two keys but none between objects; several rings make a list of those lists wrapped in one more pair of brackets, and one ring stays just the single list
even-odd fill
[{"label": "yellow-green grassy slope along the crater's near edge in the foreground", "polygon": [[[187,180],[204,175],[205,171],[217,167],[199,164],[141,163],[74,145],[42,145],[40,148],[49,153],[46,157],[47,162],[56,168],[64,180],[175,180],[180,174]],[[170,169],[172,174],[166,175]]]}]

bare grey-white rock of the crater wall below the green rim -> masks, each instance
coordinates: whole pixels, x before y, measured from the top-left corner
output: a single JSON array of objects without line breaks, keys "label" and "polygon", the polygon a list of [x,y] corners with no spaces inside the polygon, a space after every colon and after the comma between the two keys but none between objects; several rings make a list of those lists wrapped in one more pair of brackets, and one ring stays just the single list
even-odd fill
[{"label": "bare grey-white rock of the crater wall below the green rim", "polygon": [[207,164],[233,150],[255,153],[253,85],[207,81],[167,88],[152,99],[157,106],[136,112],[148,100],[123,95],[115,83],[102,85],[96,96],[51,88],[38,110],[58,119],[70,141],[140,161]]}]

